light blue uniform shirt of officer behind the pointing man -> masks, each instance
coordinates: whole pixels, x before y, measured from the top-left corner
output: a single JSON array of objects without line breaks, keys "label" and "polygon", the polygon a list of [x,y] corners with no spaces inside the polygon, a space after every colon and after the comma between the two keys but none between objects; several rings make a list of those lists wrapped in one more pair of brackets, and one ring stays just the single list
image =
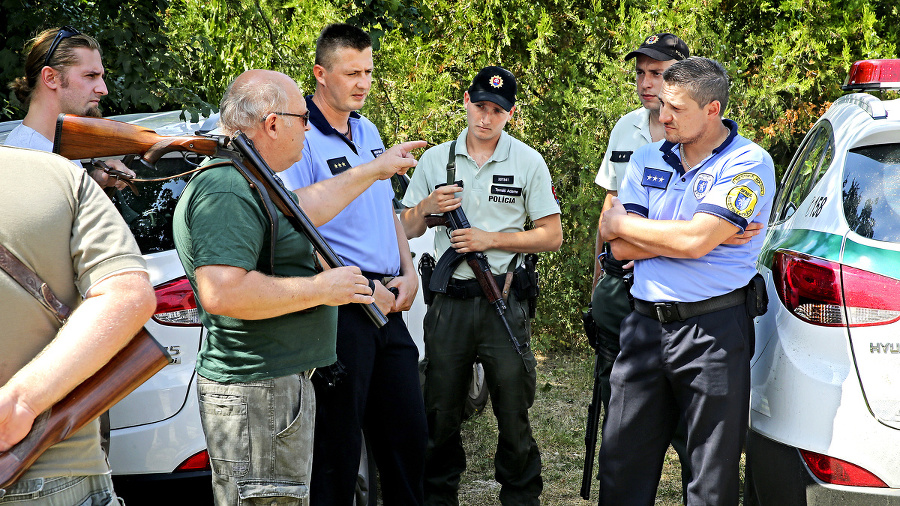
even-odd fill
[{"label": "light blue uniform shirt of officer behind the pointing man", "polygon": [[[384,152],[378,128],[368,119],[350,114],[351,141],[328,123],[312,96],[306,97],[306,106],[310,130],[306,132],[303,159],[278,174],[287,189],[334,177]],[[393,198],[390,180],[376,181],[331,221],[318,227],[345,264],[376,274],[400,273]]]}]

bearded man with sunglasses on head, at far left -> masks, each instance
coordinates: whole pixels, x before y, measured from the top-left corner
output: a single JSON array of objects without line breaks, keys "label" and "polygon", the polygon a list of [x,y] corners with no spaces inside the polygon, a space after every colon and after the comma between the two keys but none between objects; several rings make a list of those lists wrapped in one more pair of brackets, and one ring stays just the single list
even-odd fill
[{"label": "bearded man with sunglasses on head, at far left", "polygon": [[[57,116],[100,117],[100,97],[108,93],[104,74],[100,45],[93,37],[71,26],[39,33],[25,45],[25,76],[9,83],[28,113],[6,145],[53,151]],[[106,164],[134,176],[119,160]],[[125,188],[124,181],[103,169],[92,169],[90,175],[103,188]]]}]

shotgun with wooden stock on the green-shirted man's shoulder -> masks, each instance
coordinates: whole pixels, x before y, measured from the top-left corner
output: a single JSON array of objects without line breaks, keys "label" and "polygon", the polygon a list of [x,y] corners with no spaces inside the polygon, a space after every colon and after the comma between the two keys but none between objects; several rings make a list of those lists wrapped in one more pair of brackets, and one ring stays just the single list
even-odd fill
[{"label": "shotgun with wooden stock on the green-shirted man's shoulder", "polygon": [[[152,167],[163,155],[172,151],[227,158],[248,180],[266,191],[275,207],[309,239],[329,267],[344,266],[303,209],[291,198],[289,190],[275,177],[275,172],[260,156],[253,142],[242,132],[237,132],[231,139],[224,135],[173,137],[119,121],[62,114],[57,120],[56,132],[54,152],[72,159],[136,154],[141,155],[145,165]],[[384,313],[374,303],[363,305],[363,309],[376,326],[382,327],[387,323]]]}]

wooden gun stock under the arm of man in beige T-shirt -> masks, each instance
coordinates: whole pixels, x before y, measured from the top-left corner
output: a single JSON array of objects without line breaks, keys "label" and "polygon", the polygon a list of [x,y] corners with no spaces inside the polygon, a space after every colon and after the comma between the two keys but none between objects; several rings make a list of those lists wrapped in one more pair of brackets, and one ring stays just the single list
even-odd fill
[{"label": "wooden gun stock under the arm of man in beige T-shirt", "polygon": [[109,410],[169,360],[153,336],[141,329],[105,366],[41,413],[25,439],[0,453],[0,491],[15,482],[48,448]]}]

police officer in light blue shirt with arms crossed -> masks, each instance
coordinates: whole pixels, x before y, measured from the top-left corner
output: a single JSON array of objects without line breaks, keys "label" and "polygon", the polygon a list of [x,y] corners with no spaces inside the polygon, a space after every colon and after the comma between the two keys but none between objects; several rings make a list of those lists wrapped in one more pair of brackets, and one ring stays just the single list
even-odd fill
[{"label": "police officer in light blue shirt with arms crossed", "polygon": [[691,57],[663,75],[666,141],[632,157],[603,238],[634,259],[635,311],[600,446],[600,504],[653,504],[666,447],[687,426],[689,505],[736,505],[750,397],[754,265],[775,193],[771,157],[722,119],[729,80]]}]

